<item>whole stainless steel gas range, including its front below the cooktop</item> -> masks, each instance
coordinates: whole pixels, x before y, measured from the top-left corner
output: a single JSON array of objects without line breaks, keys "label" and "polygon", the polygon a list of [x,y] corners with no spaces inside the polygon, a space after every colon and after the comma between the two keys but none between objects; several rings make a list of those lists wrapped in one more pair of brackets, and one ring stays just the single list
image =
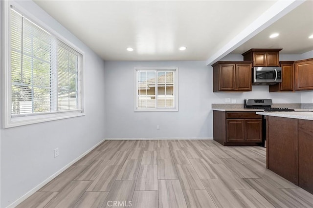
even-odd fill
[{"label": "whole stainless steel gas range, including its front below the cooktop", "polygon": [[[286,107],[271,107],[272,99],[246,99],[245,108],[261,109],[264,111],[294,111]],[[266,116],[262,117],[262,144],[266,147]]]}]

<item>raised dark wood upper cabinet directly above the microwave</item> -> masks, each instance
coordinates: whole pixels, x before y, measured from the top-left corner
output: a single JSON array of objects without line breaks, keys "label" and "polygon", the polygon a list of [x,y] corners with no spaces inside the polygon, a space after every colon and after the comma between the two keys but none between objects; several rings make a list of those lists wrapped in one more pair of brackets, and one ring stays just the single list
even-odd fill
[{"label": "raised dark wood upper cabinet directly above the microwave", "polygon": [[253,61],[252,67],[279,66],[279,51],[282,49],[250,49],[243,53],[244,61]]}]

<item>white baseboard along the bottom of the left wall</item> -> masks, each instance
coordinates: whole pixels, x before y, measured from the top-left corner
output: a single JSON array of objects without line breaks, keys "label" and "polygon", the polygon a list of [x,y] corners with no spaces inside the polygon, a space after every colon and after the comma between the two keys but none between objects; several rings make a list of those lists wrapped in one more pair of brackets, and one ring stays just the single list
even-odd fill
[{"label": "white baseboard along the bottom of the left wall", "polygon": [[36,187],[34,187],[33,189],[31,189],[30,191],[28,191],[27,193],[25,193],[22,197],[20,197],[19,199],[17,199],[15,202],[13,202],[12,204],[10,204],[9,206],[7,206],[7,208],[15,208],[16,206],[18,206],[20,203],[22,203],[25,199],[27,199],[28,197],[30,197],[32,194],[34,194],[36,191],[38,191],[40,188],[44,187],[47,183],[49,183],[52,179],[54,179],[55,177],[57,177],[58,175],[60,175],[63,171],[65,171],[69,166],[73,165],[74,163],[76,163],[77,161],[79,161],[81,158],[83,158],[85,155],[87,155],[90,151],[92,151],[94,148],[96,148],[97,146],[99,146],[101,143],[103,143],[106,139],[102,140],[101,142],[97,143],[95,146],[92,146],[90,149],[88,149],[86,152],[84,152],[82,155],[80,155],[79,157],[77,157],[76,159],[74,159],[72,162],[70,162],[69,164],[67,164],[66,166],[62,167],[60,170],[58,170],[56,173],[54,173],[53,175],[51,175],[49,178],[45,179],[45,181],[43,181],[42,183],[40,183],[39,185],[37,185]]}]

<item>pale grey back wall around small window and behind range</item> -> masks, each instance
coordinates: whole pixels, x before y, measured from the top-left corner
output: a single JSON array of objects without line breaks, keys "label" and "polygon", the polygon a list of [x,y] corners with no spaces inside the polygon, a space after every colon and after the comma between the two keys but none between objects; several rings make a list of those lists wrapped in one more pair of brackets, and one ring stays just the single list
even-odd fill
[{"label": "pale grey back wall around small window and behind range", "polygon": [[[179,68],[179,112],[134,112],[135,66]],[[252,86],[252,92],[213,93],[212,75],[205,61],[106,62],[106,138],[212,138],[211,104],[225,103],[225,98],[240,104],[246,98],[271,98],[276,104],[301,101],[298,92],[269,93],[268,86]]]}]

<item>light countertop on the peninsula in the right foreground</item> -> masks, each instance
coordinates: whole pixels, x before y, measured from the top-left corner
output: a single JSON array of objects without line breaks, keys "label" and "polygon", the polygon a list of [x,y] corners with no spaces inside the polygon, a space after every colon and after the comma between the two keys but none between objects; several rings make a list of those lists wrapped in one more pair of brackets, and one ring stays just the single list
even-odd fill
[{"label": "light countertop on the peninsula in the right foreground", "polygon": [[258,115],[285,117],[292,119],[313,120],[312,111],[288,111],[288,112],[256,112]]}]

